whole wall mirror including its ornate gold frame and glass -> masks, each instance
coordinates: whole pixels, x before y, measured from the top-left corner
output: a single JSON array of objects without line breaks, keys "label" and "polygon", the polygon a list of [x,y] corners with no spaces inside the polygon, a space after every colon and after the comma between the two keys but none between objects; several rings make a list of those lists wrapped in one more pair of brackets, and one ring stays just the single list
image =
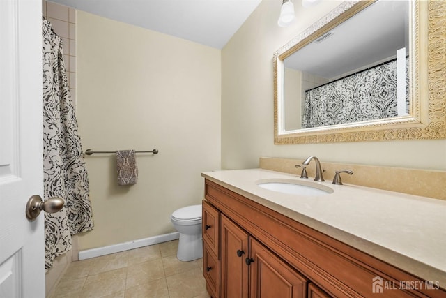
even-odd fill
[{"label": "whole wall mirror including its ornate gold frame and glass", "polygon": [[280,48],[275,144],[445,138],[444,14],[435,2],[346,1]]}]

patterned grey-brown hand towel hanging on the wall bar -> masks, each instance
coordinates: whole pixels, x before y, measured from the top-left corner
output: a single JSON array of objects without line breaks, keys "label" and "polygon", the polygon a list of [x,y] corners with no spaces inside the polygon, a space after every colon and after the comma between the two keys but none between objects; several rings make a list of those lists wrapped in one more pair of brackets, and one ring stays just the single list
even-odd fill
[{"label": "patterned grey-brown hand towel hanging on the wall bar", "polygon": [[134,159],[134,150],[116,151],[118,165],[118,184],[132,185],[138,181],[137,161]]}]

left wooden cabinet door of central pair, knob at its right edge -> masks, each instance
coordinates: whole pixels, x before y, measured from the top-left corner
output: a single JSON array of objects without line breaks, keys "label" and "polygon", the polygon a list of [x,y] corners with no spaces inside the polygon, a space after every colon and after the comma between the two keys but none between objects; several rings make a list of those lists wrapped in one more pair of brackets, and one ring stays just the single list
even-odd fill
[{"label": "left wooden cabinet door of central pair, knob at its right edge", "polygon": [[221,297],[248,297],[248,234],[229,218],[220,217],[221,229]]}]

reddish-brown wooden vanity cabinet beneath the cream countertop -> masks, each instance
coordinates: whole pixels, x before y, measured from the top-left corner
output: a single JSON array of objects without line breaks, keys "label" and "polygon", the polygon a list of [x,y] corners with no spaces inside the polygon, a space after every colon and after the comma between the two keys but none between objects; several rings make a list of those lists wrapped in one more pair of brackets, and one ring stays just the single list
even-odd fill
[{"label": "reddish-brown wooden vanity cabinet beneath the cream countertop", "polygon": [[212,297],[372,297],[376,278],[383,297],[446,297],[404,287],[424,281],[209,179],[203,243]]}]

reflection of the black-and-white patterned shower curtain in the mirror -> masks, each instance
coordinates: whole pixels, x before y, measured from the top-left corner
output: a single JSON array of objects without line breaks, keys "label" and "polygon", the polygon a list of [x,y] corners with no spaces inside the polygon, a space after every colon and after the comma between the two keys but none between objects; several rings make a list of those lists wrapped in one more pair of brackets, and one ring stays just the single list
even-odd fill
[{"label": "reflection of the black-and-white patterned shower curtain in the mirror", "polygon": [[[409,111],[408,81],[406,67],[406,112]],[[305,91],[302,128],[397,116],[397,61],[390,61]]]}]

